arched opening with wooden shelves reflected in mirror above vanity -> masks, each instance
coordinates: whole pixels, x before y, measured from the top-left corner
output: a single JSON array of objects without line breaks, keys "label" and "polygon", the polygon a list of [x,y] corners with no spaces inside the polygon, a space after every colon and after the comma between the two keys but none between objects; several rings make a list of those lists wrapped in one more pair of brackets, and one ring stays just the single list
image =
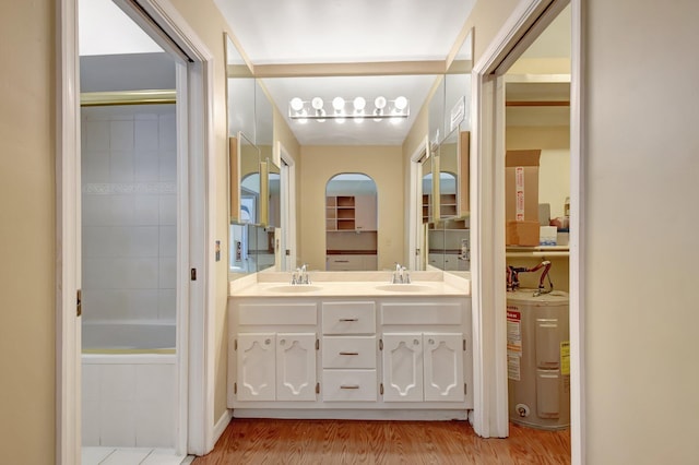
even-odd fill
[{"label": "arched opening with wooden shelves reflected in mirror above vanity", "polygon": [[325,187],[325,270],[377,270],[377,188],[363,174],[341,174]]}]

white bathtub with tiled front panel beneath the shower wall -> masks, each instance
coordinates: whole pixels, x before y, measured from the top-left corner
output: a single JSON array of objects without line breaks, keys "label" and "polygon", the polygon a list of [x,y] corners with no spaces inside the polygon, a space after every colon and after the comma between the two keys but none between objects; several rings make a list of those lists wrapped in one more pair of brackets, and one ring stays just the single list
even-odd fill
[{"label": "white bathtub with tiled front panel beneath the shower wall", "polygon": [[175,324],[83,321],[82,329],[82,444],[174,449]]}]

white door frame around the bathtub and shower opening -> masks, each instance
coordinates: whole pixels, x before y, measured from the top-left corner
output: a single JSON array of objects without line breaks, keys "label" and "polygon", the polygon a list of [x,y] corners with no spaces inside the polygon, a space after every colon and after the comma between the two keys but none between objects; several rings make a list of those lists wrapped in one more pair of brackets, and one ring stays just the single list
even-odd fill
[{"label": "white door frame around the bathtub and shower opening", "polygon": [[[188,130],[178,146],[189,156],[189,177],[180,186],[178,216],[178,391],[176,452],[203,455],[214,445],[214,338],[215,265],[215,138],[213,132],[213,55],[169,0],[118,0],[133,11],[146,13],[189,57],[178,67],[178,86],[186,78],[187,114],[178,123]],[[123,8],[123,7],[122,7]],[[134,13],[135,14],[135,13]],[[138,14],[135,14],[138,15]],[[57,301],[56,301],[56,462],[72,465],[81,456],[81,323],[75,296],[81,286],[80,267],[80,72],[78,0],[60,0],[57,8]],[[179,97],[179,95],[178,95]],[[189,134],[187,136],[187,134]],[[180,148],[178,148],[178,152]],[[181,163],[178,153],[178,163]],[[180,165],[181,166],[181,165]],[[178,168],[180,167],[178,166]],[[186,260],[182,263],[181,260]],[[199,270],[189,282],[189,269]],[[186,273],[185,273],[186,271]],[[189,284],[189,285],[186,285]],[[189,363],[189,361],[193,361]]]}]

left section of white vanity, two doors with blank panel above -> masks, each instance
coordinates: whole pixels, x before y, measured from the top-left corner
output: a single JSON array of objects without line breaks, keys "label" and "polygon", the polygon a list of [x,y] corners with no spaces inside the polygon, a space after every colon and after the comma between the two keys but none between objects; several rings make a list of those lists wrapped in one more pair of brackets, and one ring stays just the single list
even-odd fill
[{"label": "left section of white vanity, two doors with blank panel above", "polygon": [[229,397],[234,402],[315,401],[317,305],[240,303],[236,310]]}]

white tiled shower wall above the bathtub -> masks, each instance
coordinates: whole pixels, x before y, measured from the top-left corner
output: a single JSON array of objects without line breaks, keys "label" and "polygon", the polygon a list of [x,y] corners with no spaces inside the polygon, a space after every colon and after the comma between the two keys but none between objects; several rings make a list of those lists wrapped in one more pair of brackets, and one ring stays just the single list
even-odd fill
[{"label": "white tiled shower wall above the bathtub", "polygon": [[88,320],[175,320],[175,105],[82,109],[82,288]]}]

